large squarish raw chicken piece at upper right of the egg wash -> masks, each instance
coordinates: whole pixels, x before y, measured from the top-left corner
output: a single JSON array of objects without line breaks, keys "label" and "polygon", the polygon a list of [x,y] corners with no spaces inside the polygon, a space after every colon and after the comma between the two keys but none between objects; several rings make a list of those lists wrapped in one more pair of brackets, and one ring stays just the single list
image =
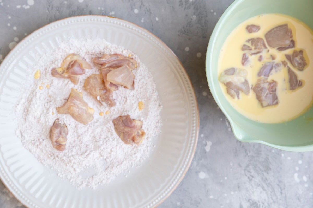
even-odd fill
[{"label": "large squarish raw chicken piece at upper right of the egg wash", "polygon": [[267,44],[272,47],[284,47],[291,44],[292,31],[288,24],[279,25],[274,27],[265,34]]}]

